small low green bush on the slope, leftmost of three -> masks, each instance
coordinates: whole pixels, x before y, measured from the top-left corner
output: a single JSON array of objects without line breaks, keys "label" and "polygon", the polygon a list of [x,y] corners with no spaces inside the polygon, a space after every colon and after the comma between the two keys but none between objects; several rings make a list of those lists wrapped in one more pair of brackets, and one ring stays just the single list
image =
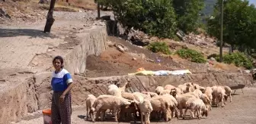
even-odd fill
[{"label": "small low green bush on the slope, leftmost of three", "polygon": [[152,52],[162,52],[163,54],[171,54],[169,46],[165,42],[152,42],[147,46]]}]

